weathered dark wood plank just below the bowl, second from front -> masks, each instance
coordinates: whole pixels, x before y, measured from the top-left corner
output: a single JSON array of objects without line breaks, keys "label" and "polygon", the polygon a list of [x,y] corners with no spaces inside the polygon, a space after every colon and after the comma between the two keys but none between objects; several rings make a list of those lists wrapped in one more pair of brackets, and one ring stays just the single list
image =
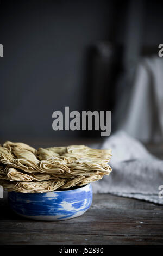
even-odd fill
[{"label": "weathered dark wood plank just below the bowl, second from front", "polygon": [[[42,227],[41,227],[42,226]],[[2,223],[1,233],[46,233],[46,234],[81,234],[81,235],[129,235],[163,236],[162,222],[99,222],[99,223]]]}]

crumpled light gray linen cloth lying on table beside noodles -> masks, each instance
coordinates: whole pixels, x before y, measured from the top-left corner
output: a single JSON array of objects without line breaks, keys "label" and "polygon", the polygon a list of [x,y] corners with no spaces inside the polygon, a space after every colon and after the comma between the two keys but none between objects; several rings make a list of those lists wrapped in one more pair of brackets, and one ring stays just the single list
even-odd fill
[{"label": "crumpled light gray linen cloth lying on table beside noodles", "polygon": [[109,177],[92,184],[94,193],[111,193],[163,204],[163,196],[159,198],[163,160],[148,153],[139,141],[123,131],[117,131],[96,147],[112,149],[109,163],[112,172]]}]

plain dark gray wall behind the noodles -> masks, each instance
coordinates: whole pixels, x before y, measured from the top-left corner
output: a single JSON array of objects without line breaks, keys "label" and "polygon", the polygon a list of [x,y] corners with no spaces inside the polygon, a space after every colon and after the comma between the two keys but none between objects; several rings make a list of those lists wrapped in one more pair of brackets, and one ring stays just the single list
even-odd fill
[{"label": "plain dark gray wall behind the noodles", "polygon": [[[81,135],[54,132],[52,113],[64,106],[88,110],[89,48],[101,41],[125,44],[129,2],[1,1],[1,141]],[[154,45],[161,40],[155,34],[155,27],[162,33],[161,5],[145,6],[143,40]]]}]

